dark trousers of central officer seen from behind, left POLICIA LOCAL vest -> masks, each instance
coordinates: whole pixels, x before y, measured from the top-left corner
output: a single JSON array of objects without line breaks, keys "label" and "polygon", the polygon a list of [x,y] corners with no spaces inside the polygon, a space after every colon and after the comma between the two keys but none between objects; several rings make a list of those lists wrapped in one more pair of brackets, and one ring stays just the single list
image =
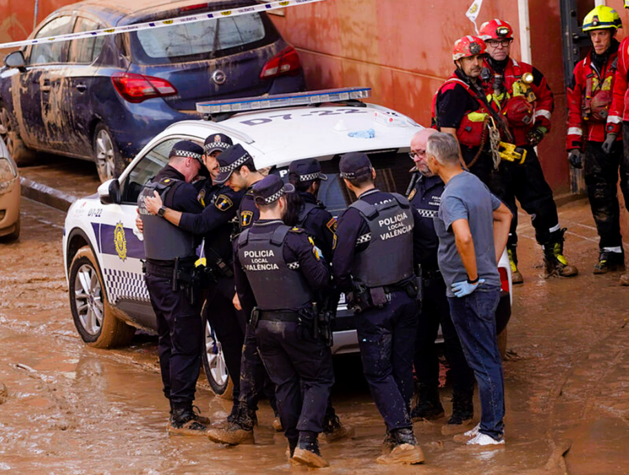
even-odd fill
[{"label": "dark trousers of central officer seen from behind, left POLICIA LOCAL vest", "polygon": [[332,354],[320,338],[300,338],[296,322],[260,320],[256,336],[262,361],[277,388],[284,434],[294,447],[299,432],[323,430],[334,383]]}]

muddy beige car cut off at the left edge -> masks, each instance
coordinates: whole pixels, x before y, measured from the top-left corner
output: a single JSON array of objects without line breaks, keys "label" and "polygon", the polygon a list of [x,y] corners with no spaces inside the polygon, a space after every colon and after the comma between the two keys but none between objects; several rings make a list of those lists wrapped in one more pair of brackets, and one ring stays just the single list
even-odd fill
[{"label": "muddy beige car cut off at the left edge", "polygon": [[8,148],[0,139],[0,241],[20,236],[20,176]]}]

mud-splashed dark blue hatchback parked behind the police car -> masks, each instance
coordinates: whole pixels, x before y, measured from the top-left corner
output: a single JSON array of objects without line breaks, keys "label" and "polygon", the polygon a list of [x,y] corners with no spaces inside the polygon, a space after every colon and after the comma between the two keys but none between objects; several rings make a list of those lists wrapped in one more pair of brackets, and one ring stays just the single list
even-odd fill
[{"label": "mud-splashed dark blue hatchback parked behind the police car", "polygon": [[[87,0],[56,10],[31,37],[254,4]],[[167,125],[197,117],[197,101],[305,90],[296,50],[264,12],[29,46],[5,65],[0,136],[14,159],[25,163],[30,150],[42,150],[93,160],[101,181]]]}]

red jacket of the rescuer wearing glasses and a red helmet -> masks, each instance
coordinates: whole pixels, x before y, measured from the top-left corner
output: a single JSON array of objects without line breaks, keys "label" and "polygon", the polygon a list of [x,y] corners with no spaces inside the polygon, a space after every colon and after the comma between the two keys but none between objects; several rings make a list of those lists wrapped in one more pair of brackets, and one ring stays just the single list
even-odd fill
[{"label": "red jacket of the rescuer wearing glasses and a red helmet", "polygon": [[[492,72],[493,76],[494,71],[491,68],[491,65],[489,65],[487,61],[484,61],[484,65]],[[526,72],[533,74],[533,66],[527,63],[519,63],[515,61],[515,59],[509,58],[506,67],[504,68],[504,87],[510,96],[513,96],[513,83],[522,78],[522,74]],[[493,79],[484,83],[483,86],[486,94],[493,94]],[[553,113],[553,109],[555,108],[553,92],[548,87],[546,78],[543,75],[539,84],[536,85],[535,82],[533,82],[530,84],[530,88],[535,94],[535,119],[533,123],[530,123],[530,125],[527,125],[526,127],[510,126],[511,133],[513,134],[513,141],[517,146],[528,145],[528,142],[526,141],[526,133],[533,128],[542,126],[550,131],[550,114]],[[506,103],[507,101],[504,101],[503,110]]]}]

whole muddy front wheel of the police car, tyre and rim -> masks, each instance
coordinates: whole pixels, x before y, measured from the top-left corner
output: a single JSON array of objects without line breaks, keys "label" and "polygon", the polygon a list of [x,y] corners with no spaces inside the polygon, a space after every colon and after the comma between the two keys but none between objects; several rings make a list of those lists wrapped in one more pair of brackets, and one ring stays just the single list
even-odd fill
[{"label": "whole muddy front wheel of the police car, tyre and rim", "polygon": [[76,252],[68,274],[72,319],[83,341],[96,348],[127,345],[135,328],[118,319],[107,302],[103,278],[90,246]]}]

